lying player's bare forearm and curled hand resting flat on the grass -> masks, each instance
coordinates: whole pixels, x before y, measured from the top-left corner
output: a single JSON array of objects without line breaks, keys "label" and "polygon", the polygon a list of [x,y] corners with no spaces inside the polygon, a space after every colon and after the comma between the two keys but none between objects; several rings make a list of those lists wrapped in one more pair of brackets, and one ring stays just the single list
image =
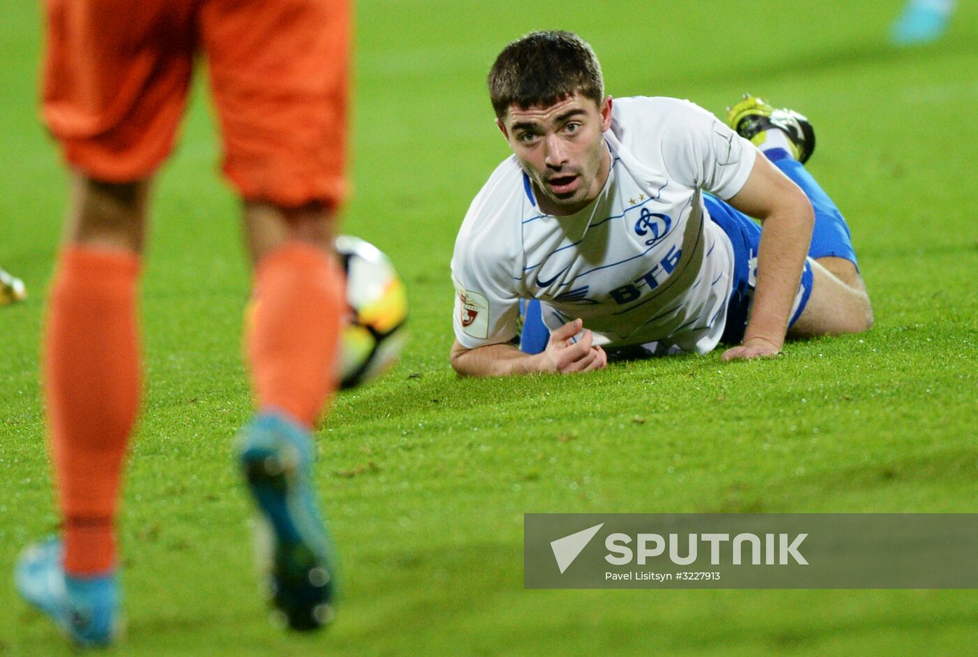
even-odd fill
[{"label": "lying player's bare forearm and curled hand resting flat on the grass", "polygon": [[458,340],[452,345],[452,368],[463,376],[511,376],[540,372],[593,372],[607,366],[607,355],[593,344],[594,335],[581,320],[568,322],[551,333],[547,348],[539,354],[526,354],[512,344],[488,344],[467,349]]}]

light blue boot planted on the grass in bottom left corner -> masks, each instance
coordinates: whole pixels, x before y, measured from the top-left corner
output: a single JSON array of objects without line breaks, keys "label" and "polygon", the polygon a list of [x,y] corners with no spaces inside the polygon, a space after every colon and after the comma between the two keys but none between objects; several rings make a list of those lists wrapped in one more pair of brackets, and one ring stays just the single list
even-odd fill
[{"label": "light blue boot planted on the grass in bottom left corner", "polygon": [[17,591],[78,645],[110,644],[120,627],[114,574],[66,576],[62,553],[54,537],[24,549],[14,567]]}]

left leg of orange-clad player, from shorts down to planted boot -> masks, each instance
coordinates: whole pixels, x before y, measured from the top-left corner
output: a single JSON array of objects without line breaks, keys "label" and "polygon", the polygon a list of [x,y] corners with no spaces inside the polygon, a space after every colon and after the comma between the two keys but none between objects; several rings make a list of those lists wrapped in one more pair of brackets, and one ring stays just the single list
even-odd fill
[{"label": "left leg of orange-clad player, from shorts down to planted boot", "polygon": [[136,285],[148,180],[173,143],[192,2],[48,0],[43,114],[74,169],[44,337],[64,535],[24,551],[22,596],[83,645],[118,626],[117,512],[140,395]]}]

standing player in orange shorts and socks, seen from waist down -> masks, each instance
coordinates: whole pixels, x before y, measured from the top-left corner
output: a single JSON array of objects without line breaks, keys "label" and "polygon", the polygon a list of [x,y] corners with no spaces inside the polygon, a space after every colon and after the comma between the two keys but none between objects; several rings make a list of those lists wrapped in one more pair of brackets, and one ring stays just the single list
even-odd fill
[{"label": "standing player in orange shorts and socks, seen from waist down", "polygon": [[309,429],[334,381],[343,282],[345,0],[49,0],[43,114],[73,172],[44,338],[45,402],[64,517],[24,551],[22,596],[82,645],[119,626],[114,523],[140,399],[136,295],[146,207],[194,60],[207,57],[224,172],[254,264],[246,345],[258,413],[239,463],[271,527],[270,595],[289,626],[331,616],[332,556]]}]

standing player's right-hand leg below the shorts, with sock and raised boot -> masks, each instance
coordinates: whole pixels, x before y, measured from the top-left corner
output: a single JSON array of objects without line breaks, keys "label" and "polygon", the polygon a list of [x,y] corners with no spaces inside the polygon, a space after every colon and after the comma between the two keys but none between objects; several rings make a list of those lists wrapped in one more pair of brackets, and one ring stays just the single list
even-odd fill
[{"label": "standing player's right-hand leg below the shorts, with sock and raised boot", "polygon": [[259,529],[272,539],[262,554],[269,592],[295,630],[333,617],[335,557],[310,435],[335,386],[343,286],[328,251],[330,219],[325,207],[246,205],[256,266],[245,343],[258,413],[242,433],[241,460]]}]

